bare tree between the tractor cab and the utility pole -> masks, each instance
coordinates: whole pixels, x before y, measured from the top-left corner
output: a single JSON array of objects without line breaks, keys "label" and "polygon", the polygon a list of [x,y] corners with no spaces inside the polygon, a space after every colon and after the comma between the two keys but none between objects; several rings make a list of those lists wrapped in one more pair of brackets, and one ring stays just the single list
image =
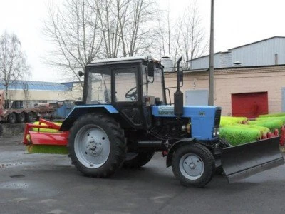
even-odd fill
[{"label": "bare tree between the tractor cab and the utility pole", "polygon": [[187,69],[187,61],[205,54],[208,42],[204,36],[201,25],[199,8],[196,1],[191,1],[190,6],[185,7],[182,16],[170,19],[170,9],[165,11],[164,19],[159,19],[160,54],[170,56],[176,63],[180,56],[182,67]]}]

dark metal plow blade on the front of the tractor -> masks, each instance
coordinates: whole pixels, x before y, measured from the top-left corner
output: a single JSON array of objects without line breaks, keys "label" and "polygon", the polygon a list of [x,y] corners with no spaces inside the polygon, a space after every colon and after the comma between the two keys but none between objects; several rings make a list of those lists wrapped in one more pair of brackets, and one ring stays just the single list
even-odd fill
[{"label": "dark metal plow blade on the front of the tractor", "polygon": [[284,164],[279,137],[222,150],[222,168],[229,183]]}]

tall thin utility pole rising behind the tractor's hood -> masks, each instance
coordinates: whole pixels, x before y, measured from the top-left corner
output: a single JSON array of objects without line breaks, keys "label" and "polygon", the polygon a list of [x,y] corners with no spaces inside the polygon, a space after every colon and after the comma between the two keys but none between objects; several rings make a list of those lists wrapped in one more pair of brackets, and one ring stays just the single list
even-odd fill
[{"label": "tall thin utility pole rising behind the tractor's hood", "polygon": [[209,106],[214,106],[214,0],[211,0],[211,31],[209,39]]}]

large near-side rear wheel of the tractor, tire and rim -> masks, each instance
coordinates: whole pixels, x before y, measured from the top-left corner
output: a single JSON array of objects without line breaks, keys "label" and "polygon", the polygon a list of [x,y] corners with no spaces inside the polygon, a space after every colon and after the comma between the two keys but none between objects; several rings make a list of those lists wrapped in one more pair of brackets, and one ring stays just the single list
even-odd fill
[{"label": "large near-side rear wheel of the tractor, tire and rim", "polygon": [[72,163],[84,175],[106,178],[125,161],[126,143],[120,124],[103,114],[81,116],[68,138]]}]

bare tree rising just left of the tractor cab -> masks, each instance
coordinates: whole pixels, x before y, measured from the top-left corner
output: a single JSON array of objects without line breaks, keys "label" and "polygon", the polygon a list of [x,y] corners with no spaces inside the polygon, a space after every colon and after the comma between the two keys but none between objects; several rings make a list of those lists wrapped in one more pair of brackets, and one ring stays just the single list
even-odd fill
[{"label": "bare tree rising just left of the tractor cab", "polygon": [[48,20],[43,33],[55,44],[47,63],[62,68],[70,80],[81,78],[78,70],[100,56],[102,34],[98,16],[87,0],[65,1],[63,5],[48,6]]}]

